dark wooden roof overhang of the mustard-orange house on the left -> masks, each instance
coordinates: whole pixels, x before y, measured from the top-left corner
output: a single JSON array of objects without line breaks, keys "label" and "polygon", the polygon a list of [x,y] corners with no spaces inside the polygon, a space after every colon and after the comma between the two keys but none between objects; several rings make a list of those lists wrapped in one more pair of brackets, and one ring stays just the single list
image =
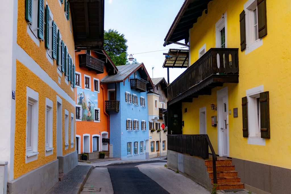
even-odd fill
[{"label": "dark wooden roof overhang of the mustard-orange house on the left", "polygon": [[101,50],[104,44],[104,0],[68,0],[75,49]]}]

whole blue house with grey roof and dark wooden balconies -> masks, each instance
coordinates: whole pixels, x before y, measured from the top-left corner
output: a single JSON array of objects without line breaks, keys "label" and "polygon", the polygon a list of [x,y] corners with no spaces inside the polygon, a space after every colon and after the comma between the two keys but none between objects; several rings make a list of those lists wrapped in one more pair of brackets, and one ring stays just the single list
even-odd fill
[{"label": "whole blue house with grey roof and dark wooden balconies", "polygon": [[110,114],[113,157],[145,159],[149,154],[147,91],[153,88],[152,80],[143,63],[117,68],[116,75],[101,80],[108,89],[105,110]]}]

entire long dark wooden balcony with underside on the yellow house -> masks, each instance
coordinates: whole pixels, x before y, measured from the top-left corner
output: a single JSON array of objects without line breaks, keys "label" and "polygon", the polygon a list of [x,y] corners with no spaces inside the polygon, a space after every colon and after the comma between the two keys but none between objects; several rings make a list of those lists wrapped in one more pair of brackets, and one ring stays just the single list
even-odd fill
[{"label": "entire long dark wooden balcony with underside on the yellow house", "polygon": [[168,105],[211,95],[212,88],[238,83],[238,77],[238,48],[211,48],[167,87]]}]

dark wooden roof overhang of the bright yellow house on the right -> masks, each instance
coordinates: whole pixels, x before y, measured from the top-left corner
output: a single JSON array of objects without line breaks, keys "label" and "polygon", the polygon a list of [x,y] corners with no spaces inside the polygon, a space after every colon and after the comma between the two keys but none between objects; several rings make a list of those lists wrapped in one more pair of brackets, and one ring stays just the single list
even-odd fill
[{"label": "dark wooden roof overhang of the bright yellow house on the right", "polygon": [[185,39],[188,43],[189,29],[202,16],[203,11],[207,13],[207,5],[212,0],[185,0],[175,20],[173,21],[165,39],[164,46]]}]

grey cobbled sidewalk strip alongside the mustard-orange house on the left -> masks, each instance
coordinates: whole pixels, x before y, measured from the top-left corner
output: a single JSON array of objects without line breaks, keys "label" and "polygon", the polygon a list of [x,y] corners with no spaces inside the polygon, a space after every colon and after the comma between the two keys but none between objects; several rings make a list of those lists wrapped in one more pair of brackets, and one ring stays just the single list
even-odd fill
[{"label": "grey cobbled sidewalk strip alongside the mustard-orange house on the left", "polygon": [[77,194],[86,182],[92,166],[78,165],[64,176],[47,194]]}]

